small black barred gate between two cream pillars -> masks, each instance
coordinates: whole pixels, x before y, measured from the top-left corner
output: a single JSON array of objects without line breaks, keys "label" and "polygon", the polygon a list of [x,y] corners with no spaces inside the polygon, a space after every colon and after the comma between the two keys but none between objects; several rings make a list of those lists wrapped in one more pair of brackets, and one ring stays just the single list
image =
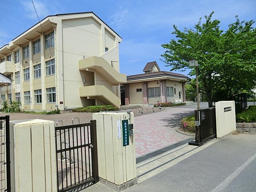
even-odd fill
[{"label": "small black barred gate between two cream pillars", "polygon": [[96,120],[55,128],[58,191],[98,182]]}]

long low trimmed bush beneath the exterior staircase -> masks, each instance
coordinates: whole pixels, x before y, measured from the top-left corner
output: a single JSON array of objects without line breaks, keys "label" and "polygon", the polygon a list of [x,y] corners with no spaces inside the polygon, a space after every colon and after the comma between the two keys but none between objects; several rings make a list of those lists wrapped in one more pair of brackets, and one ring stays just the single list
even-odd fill
[{"label": "long low trimmed bush beneath the exterior staircase", "polygon": [[87,107],[80,107],[76,109],[72,109],[72,112],[100,112],[100,111],[116,111],[118,110],[117,107],[112,105],[97,105],[97,106],[87,106]]}]

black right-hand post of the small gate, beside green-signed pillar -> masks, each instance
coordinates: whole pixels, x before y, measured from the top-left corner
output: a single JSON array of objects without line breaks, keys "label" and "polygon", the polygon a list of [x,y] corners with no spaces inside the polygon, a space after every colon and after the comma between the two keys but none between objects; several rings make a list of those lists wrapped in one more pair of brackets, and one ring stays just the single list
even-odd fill
[{"label": "black right-hand post of the small gate, beside green-signed pillar", "polygon": [[91,139],[93,140],[93,159],[92,159],[92,169],[93,169],[93,178],[94,183],[99,181],[99,170],[98,170],[98,150],[97,150],[97,128],[96,120],[91,120],[92,129],[91,129]]}]

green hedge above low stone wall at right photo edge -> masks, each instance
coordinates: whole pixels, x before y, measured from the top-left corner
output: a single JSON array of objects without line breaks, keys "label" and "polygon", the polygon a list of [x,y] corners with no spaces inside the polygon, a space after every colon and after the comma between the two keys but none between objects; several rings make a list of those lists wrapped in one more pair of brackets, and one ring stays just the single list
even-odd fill
[{"label": "green hedge above low stone wall at right photo edge", "polygon": [[238,113],[236,115],[236,122],[237,123],[252,123],[256,122],[256,106],[250,105],[248,109]]}]

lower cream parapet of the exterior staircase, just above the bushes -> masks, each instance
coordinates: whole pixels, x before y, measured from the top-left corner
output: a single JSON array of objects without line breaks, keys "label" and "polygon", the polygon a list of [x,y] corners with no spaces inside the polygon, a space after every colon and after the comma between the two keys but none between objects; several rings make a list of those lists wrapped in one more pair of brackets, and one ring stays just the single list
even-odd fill
[{"label": "lower cream parapet of the exterior staircase, just above the bushes", "polygon": [[79,88],[80,97],[87,97],[88,99],[99,99],[105,104],[120,107],[120,98],[112,93],[104,85],[92,85]]}]

